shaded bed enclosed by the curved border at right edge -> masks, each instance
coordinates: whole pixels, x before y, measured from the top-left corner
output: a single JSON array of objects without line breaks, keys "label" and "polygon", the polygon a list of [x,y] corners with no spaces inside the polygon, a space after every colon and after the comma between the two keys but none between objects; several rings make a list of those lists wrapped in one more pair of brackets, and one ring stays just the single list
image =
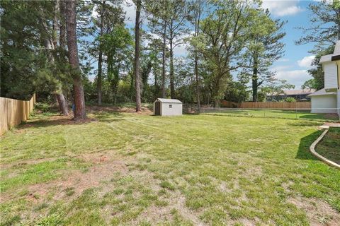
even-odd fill
[{"label": "shaded bed enclosed by the curved border at right edge", "polygon": [[340,165],[340,128],[330,128],[317,145],[317,153]]}]

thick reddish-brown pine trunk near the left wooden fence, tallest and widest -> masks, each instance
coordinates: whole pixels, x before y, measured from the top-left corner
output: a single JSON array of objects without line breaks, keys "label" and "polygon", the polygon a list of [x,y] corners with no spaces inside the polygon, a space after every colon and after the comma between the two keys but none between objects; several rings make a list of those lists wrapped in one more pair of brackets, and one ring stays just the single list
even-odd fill
[{"label": "thick reddish-brown pine trunk near the left wooden fence, tallest and widest", "polygon": [[69,64],[73,71],[73,88],[74,88],[74,120],[86,119],[84,88],[81,83],[81,71],[79,69],[79,57],[77,47],[77,20],[76,20],[76,1],[66,1],[66,32],[67,47],[69,50]]}]

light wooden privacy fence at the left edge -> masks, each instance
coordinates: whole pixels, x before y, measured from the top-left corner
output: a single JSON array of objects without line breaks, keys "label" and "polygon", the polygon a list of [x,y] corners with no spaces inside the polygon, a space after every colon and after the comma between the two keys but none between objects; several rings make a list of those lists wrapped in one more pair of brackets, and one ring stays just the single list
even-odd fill
[{"label": "light wooden privacy fence at the left edge", "polygon": [[0,97],[0,135],[26,121],[33,111],[34,104],[35,94],[28,101]]}]

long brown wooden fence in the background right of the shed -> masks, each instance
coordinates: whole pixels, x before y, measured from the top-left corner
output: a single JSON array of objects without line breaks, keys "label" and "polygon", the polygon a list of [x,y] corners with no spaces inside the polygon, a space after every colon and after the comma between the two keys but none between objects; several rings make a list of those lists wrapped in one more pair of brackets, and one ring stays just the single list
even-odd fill
[{"label": "long brown wooden fence in the background right of the shed", "polygon": [[240,104],[222,100],[221,107],[238,108],[311,108],[310,102],[242,102]]}]

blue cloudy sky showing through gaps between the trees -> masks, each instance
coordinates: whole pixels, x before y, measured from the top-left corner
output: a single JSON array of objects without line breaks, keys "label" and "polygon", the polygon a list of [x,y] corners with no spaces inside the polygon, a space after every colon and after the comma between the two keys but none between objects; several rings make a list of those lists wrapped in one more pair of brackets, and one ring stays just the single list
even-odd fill
[{"label": "blue cloudy sky showing through gaps between the trees", "polygon": [[[133,27],[135,22],[135,6],[131,0],[130,6],[124,6],[126,11],[128,27]],[[315,4],[316,1],[299,1],[299,0],[264,0],[263,7],[271,11],[273,18],[288,20],[284,30],[286,35],[283,39],[285,43],[285,56],[276,61],[272,69],[276,71],[276,78],[287,80],[288,83],[295,85],[295,89],[300,89],[301,85],[311,78],[307,73],[310,69],[310,63],[314,56],[310,50],[314,44],[295,45],[295,41],[302,37],[302,30],[297,27],[308,28],[310,26],[310,11],[307,10],[309,4]],[[185,56],[185,45],[175,49],[176,56]]]}]

